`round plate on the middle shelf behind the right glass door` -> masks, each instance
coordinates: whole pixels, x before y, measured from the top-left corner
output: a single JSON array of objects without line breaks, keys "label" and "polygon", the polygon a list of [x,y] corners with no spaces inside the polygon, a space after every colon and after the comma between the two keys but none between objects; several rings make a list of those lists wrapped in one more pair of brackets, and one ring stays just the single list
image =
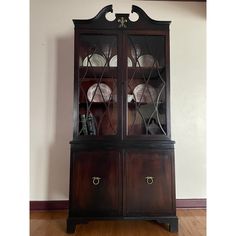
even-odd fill
[{"label": "round plate on the middle shelf behind the right glass door", "polygon": [[151,85],[139,84],[133,94],[136,102],[155,102],[157,98],[156,90]]}]

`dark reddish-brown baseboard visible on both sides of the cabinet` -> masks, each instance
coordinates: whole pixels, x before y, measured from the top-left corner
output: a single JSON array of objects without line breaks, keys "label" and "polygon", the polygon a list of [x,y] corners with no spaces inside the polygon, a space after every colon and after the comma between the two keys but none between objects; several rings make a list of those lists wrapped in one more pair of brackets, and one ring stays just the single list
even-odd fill
[{"label": "dark reddish-brown baseboard visible on both sides of the cabinet", "polygon": [[[68,201],[30,201],[30,211],[67,210]],[[177,208],[206,208],[206,199],[177,199]]]}]

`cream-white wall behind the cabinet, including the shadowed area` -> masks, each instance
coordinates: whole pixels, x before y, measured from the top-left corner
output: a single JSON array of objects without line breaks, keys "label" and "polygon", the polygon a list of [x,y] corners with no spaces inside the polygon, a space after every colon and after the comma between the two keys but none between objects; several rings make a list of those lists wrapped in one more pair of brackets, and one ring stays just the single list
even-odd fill
[{"label": "cream-white wall behind the cabinet, including the shadowed area", "polygon": [[206,197],[205,3],[31,0],[30,200],[66,200],[72,138],[73,24],[113,4],[171,20],[171,123],[177,198]]}]

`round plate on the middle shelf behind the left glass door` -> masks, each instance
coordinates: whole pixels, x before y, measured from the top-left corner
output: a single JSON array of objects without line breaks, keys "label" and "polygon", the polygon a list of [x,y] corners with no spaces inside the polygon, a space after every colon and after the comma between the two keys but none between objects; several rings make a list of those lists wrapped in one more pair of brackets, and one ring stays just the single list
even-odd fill
[{"label": "round plate on the middle shelf behind the left glass door", "polygon": [[93,84],[91,87],[89,87],[87,92],[87,97],[90,102],[107,102],[109,101],[110,96],[111,88],[104,83],[99,83],[99,85],[97,83]]}]

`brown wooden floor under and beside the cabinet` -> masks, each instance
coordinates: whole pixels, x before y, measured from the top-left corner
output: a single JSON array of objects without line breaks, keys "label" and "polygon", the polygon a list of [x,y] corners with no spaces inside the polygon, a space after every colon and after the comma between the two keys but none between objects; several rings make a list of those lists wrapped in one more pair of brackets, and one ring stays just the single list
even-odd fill
[{"label": "brown wooden floor under and beside the cabinet", "polygon": [[[205,236],[206,210],[178,209],[179,232],[170,233],[153,221],[91,221],[77,225],[76,236]],[[65,236],[66,211],[31,212],[30,236]]]}]

